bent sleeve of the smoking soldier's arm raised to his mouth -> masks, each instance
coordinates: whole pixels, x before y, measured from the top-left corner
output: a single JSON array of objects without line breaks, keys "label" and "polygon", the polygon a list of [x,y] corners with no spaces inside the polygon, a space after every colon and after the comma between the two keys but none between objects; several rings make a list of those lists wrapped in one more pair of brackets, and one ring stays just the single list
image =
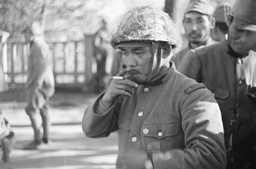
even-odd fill
[{"label": "bent sleeve of the smoking soldier's arm raised to his mouth", "polygon": [[89,104],[82,119],[84,134],[90,138],[108,137],[111,132],[118,129],[117,118],[119,112],[119,101],[116,101],[103,114],[97,114],[96,107],[101,100],[102,93],[97,99]]}]

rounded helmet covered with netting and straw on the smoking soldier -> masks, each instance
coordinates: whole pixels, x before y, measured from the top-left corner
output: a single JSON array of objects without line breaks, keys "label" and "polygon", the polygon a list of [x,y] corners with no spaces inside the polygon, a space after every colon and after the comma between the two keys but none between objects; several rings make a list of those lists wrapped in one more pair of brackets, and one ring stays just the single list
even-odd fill
[{"label": "rounded helmet covered with netting and straw on the smoking soldier", "polygon": [[162,41],[173,48],[181,42],[176,25],[169,15],[150,6],[128,11],[112,35],[111,45],[117,48],[121,42],[128,41]]}]

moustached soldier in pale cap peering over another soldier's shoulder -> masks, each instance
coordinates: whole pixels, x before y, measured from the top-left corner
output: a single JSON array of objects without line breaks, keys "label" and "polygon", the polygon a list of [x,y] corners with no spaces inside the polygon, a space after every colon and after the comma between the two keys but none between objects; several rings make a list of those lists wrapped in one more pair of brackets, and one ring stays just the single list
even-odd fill
[{"label": "moustached soldier in pale cap peering over another soldier's shoulder", "polygon": [[214,7],[209,0],[190,0],[183,18],[185,36],[189,43],[186,48],[172,56],[171,61],[175,63],[176,68],[190,49],[216,43],[210,37],[210,30],[215,26],[213,11]]}]

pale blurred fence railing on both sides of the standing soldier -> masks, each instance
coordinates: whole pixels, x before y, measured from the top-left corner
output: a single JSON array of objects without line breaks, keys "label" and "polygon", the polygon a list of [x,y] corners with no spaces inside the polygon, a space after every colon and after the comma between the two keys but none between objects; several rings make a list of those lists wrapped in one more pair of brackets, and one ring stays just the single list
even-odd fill
[{"label": "pale blurred fence railing on both sides of the standing soldier", "polygon": [[[88,88],[93,78],[93,35],[81,41],[50,42],[52,67],[56,87]],[[26,84],[29,46],[25,42],[9,39],[3,45],[3,70],[10,88]]]}]

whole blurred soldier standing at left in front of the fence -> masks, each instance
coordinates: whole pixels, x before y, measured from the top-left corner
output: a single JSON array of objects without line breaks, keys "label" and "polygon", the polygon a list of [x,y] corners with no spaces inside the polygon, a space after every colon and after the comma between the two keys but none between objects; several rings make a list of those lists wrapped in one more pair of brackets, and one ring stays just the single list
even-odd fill
[{"label": "whole blurred soldier standing at left in front of the fence", "polygon": [[[43,141],[51,143],[49,128],[51,125],[48,110],[49,98],[55,92],[55,82],[52,71],[52,59],[47,43],[44,41],[44,32],[40,23],[33,22],[25,31],[26,42],[30,42],[28,57],[27,83],[28,106],[26,113],[29,115],[34,130],[34,141],[24,149],[38,149]],[[41,136],[43,126],[43,137]]]}]

